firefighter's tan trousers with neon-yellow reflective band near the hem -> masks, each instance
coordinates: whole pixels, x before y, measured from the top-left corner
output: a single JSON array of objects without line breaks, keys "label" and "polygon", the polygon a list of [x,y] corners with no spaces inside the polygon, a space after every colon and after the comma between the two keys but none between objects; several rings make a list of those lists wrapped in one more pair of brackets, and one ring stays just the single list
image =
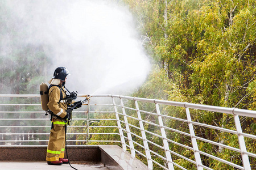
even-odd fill
[{"label": "firefighter's tan trousers with neon-yellow reflective band near the hem", "polygon": [[64,158],[65,152],[65,126],[54,125],[51,129],[47,147],[46,160],[49,162]]}]

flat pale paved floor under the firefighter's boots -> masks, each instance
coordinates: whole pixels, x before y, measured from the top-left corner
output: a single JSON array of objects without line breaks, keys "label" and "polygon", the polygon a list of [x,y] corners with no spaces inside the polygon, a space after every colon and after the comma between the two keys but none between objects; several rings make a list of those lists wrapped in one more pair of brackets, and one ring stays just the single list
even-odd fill
[{"label": "flat pale paved floor under the firefighter's boots", "polygon": [[[108,168],[104,167],[102,163],[80,163],[80,164],[71,164],[72,167],[78,170],[107,170]],[[0,162],[1,170],[72,170],[69,164],[63,165],[48,165],[47,162]]]}]

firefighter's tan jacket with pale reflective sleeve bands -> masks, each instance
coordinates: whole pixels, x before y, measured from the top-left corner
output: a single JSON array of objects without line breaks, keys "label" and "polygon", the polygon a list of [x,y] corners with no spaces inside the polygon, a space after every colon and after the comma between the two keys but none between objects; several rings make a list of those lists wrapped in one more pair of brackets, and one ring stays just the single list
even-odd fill
[{"label": "firefighter's tan jacket with pale reflective sleeve bands", "polygon": [[[66,94],[63,87],[61,87],[61,84],[59,84],[59,87],[63,89],[63,99],[65,99]],[[49,102],[48,102],[48,108],[57,116],[64,118],[67,115],[67,108],[68,105],[66,103],[66,100],[60,101],[60,88],[57,86],[52,86],[49,89]],[[59,102],[60,101],[60,102]],[[60,119],[59,119],[60,120]],[[58,120],[58,121],[59,121]],[[61,120],[62,121],[62,120]]]}]

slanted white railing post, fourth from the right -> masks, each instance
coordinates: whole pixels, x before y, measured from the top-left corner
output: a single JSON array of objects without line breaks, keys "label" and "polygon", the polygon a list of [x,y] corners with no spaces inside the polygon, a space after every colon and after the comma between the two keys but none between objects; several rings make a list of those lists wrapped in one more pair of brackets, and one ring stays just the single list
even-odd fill
[{"label": "slanted white railing post, fourth from the right", "polygon": [[141,118],[141,112],[139,112],[139,105],[138,105],[137,100],[135,100],[135,105],[136,105],[136,109],[137,109],[139,127],[141,129],[143,145],[144,145],[146,158],[147,158],[147,167],[150,168],[150,169],[153,169],[153,163],[152,163],[152,160],[151,160],[150,150],[149,150],[149,147],[148,147],[148,143],[146,141],[147,137],[146,137],[146,133],[144,131],[144,126],[143,126],[143,122],[142,122],[142,118]]}]

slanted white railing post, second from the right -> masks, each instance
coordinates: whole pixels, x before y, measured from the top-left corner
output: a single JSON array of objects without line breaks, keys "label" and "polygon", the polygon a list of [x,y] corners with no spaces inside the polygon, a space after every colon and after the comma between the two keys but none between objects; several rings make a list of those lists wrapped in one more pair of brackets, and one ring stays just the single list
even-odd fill
[{"label": "slanted white railing post, second from the right", "polygon": [[191,120],[191,116],[189,113],[189,108],[186,108],[186,114],[187,114],[189,132],[191,135],[192,146],[193,146],[194,155],[195,155],[195,159],[196,159],[196,167],[199,170],[203,170],[203,167],[200,166],[200,165],[202,165],[201,156],[200,156],[199,152],[197,152],[199,149],[198,149],[196,138],[195,138],[195,131],[193,128],[193,124],[191,123],[192,120]]}]

